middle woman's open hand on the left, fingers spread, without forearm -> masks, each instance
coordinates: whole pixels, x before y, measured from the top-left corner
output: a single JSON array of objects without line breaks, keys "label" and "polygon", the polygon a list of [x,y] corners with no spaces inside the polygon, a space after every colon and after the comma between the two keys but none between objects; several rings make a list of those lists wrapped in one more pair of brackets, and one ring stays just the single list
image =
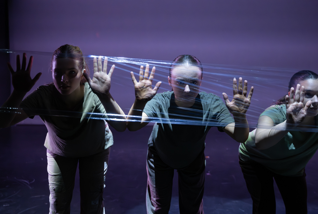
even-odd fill
[{"label": "middle woman's open hand on the left, fingers spread, without forearm", "polygon": [[131,74],[131,79],[133,80],[133,83],[135,85],[135,96],[136,100],[139,101],[149,101],[151,100],[157,93],[161,82],[157,82],[156,86],[154,89],[152,89],[152,80],[154,79],[155,76],[155,66],[152,67],[150,76],[149,75],[149,65],[146,65],[145,69],[145,75],[143,75],[143,66],[140,66],[140,72],[139,72],[139,82],[135,79],[134,72],[130,72]]}]

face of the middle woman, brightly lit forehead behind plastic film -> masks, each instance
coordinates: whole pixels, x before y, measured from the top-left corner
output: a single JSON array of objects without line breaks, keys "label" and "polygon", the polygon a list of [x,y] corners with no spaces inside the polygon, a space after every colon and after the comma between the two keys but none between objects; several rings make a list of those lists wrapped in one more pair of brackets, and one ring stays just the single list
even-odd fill
[{"label": "face of the middle woman, brightly lit forehead behind plastic film", "polygon": [[175,99],[182,103],[194,103],[202,81],[202,71],[196,66],[177,66],[168,77]]}]

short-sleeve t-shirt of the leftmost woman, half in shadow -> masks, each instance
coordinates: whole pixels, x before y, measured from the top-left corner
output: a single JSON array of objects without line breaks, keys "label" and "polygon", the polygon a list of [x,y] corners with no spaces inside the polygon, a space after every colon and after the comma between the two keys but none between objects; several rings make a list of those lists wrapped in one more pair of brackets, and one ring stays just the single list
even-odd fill
[{"label": "short-sleeve t-shirt of the leftmost woman, half in shadow", "polygon": [[57,155],[84,157],[113,145],[104,106],[87,82],[84,87],[84,98],[68,112],[54,85],[39,86],[20,105],[30,118],[40,116],[48,130],[44,145]]}]

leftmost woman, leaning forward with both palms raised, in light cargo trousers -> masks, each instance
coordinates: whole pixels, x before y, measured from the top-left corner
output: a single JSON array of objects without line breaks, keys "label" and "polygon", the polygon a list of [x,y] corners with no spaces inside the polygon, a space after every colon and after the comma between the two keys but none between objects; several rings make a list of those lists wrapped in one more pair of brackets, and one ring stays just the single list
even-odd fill
[{"label": "leftmost woman, leaning forward with both palms raised, in light cargo trousers", "polygon": [[[18,109],[15,109],[16,113],[1,112],[0,128],[40,115],[48,130],[44,145],[47,148],[50,213],[70,213],[78,162],[81,213],[105,213],[104,181],[110,146],[113,145],[108,123],[117,131],[127,127],[125,114],[109,93],[115,66],[107,74],[107,59],[103,68],[101,57],[94,58],[91,79],[79,47],[63,45],[52,56],[53,83],[39,86],[23,100],[41,76],[38,73],[31,79],[33,57],[27,68],[26,59],[24,53],[21,66],[17,55],[16,72],[8,63],[14,90],[2,107]],[[57,116],[60,113],[64,117]],[[94,119],[90,113],[101,113],[103,120]]]}]

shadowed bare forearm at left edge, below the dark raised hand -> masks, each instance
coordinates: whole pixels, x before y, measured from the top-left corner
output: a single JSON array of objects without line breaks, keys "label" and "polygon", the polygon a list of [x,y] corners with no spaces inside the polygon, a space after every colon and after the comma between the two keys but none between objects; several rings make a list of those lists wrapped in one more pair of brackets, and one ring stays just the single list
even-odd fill
[{"label": "shadowed bare forearm at left edge, below the dark raised hand", "polygon": [[[10,97],[4,102],[0,111],[0,128],[8,127],[16,115],[12,108],[18,108],[26,93],[13,90]],[[10,109],[11,108],[11,109]]]}]

